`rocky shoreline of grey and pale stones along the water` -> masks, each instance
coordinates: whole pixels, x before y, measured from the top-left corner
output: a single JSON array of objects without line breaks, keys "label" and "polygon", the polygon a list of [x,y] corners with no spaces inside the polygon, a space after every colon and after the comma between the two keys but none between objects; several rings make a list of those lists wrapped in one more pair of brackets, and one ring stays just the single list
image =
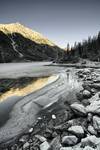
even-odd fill
[{"label": "rocky shoreline of grey and pale stones along the water", "polygon": [[100,74],[80,69],[77,101],[59,99],[43,109],[16,143],[2,150],[100,150]]}]

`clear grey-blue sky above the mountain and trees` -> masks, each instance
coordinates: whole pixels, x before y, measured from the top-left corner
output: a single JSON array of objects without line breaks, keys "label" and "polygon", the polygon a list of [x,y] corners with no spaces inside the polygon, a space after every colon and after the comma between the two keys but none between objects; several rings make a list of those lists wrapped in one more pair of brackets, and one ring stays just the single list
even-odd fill
[{"label": "clear grey-blue sky above the mountain and trees", "polygon": [[100,31],[100,0],[0,0],[0,24],[15,22],[66,47]]}]

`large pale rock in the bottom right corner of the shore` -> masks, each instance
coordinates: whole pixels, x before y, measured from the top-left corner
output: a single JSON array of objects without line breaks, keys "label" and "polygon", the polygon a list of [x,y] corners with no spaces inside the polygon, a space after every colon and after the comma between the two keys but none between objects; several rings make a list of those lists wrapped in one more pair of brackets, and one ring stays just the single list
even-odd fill
[{"label": "large pale rock in the bottom right corner of the shore", "polygon": [[90,146],[95,148],[99,143],[100,139],[95,135],[91,135],[81,140],[81,147]]}]

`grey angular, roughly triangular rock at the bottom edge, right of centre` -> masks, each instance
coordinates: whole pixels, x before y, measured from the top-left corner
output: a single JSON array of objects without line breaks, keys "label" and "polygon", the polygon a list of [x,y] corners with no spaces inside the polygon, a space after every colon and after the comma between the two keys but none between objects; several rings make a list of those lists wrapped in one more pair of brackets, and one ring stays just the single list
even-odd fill
[{"label": "grey angular, roughly triangular rock at the bottom edge, right of centre", "polygon": [[60,137],[56,137],[52,140],[49,150],[59,150],[61,148]]}]

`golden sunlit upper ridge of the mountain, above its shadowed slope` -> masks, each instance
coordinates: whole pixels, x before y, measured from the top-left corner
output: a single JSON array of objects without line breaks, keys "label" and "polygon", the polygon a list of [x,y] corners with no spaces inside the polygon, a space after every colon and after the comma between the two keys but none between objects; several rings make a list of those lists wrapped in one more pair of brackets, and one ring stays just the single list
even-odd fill
[{"label": "golden sunlit upper ridge of the mountain, above its shadowed slope", "polygon": [[32,41],[35,41],[39,44],[47,44],[50,46],[54,46],[55,44],[45,38],[42,34],[33,31],[19,22],[11,23],[11,24],[0,24],[0,30],[5,34],[19,33],[22,34],[25,38],[29,38]]}]

